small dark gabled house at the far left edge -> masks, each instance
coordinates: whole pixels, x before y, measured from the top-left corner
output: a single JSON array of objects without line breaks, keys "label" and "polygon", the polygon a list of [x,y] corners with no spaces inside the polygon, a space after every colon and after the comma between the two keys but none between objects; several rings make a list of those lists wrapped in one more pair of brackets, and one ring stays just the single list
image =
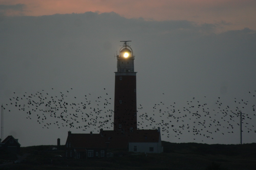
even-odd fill
[{"label": "small dark gabled house at the far left edge", "polygon": [[18,142],[18,139],[15,139],[13,136],[7,136],[0,143],[0,150],[4,150],[6,152],[12,152],[12,153],[19,153],[20,144]]}]

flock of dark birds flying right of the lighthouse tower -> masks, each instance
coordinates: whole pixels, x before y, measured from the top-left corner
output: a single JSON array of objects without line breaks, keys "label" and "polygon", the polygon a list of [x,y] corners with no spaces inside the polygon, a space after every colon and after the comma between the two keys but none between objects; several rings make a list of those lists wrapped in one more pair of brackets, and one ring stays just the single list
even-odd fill
[{"label": "flock of dark birds flying right of the lighthouse tower", "polygon": [[[251,92],[249,93],[251,94]],[[255,95],[252,96],[255,97]],[[213,106],[208,107],[207,103],[201,103],[194,97],[186,102],[185,107],[178,109],[176,102],[171,105],[160,102],[154,104],[153,114],[141,114],[141,122],[138,123],[143,125],[145,121],[149,122],[150,125],[146,125],[146,128],[160,126],[162,127],[162,132],[164,132],[162,134],[167,135],[167,137],[171,135],[180,139],[180,136],[187,132],[195,136],[199,135],[214,139],[212,134],[220,133],[225,135],[225,133],[234,133],[234,129],[240,129],[240,114],[242,113],[242,132],[256,133],[254,124],[247,123],[248,120],[255,119],[255,105],[248,106],[249,101],[237,98],[234,98],[234,102],[236,103],[235,108],[228,105],[225,106],[221,102],[221,98],[218,97],[214,103],[214,109],[209,109]],[[243,113],[245,109],[247,109],[247,113]],[[240,111],[242,112],[240,113]],[[196,138],[194,137],[193,139],[196,140]]]}]

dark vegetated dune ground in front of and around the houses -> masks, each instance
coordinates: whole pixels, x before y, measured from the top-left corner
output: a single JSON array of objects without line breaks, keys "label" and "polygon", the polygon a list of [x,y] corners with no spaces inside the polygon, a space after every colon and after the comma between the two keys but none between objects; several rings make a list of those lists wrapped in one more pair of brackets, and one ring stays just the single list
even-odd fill
[{"label": "dark vegetated dune ground in front of and around the houses", "polygon": [[162,145],[161,154],[126,152],[122,157],[88,160],[61,157],[64,146],[57,150],[52,150],[56,146],[22,147],[19,155],[1,152],[0,169],[256,169],[256,143],[208,145],[163,141]]}]

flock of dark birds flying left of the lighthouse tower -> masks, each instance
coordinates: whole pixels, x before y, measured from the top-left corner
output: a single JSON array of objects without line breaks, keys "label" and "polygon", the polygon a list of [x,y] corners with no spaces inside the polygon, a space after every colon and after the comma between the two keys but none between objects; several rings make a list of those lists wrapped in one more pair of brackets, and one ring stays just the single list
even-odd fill
[{"label": "flock of dark birds flying left of the lighthouse tower", "polygon": [[[56,125],[58,128],[70,127],[82,130],[93,127],[98,131],[99,128],[113,126],[111,124],[113,111],[108,109],[111,107],[109,102],[111,98],[103,99],[99,96],[93,100],[90,99],[91,94],[87,94],[82,100],[73,96],[71,99],[73,101],[68,102],[70,100],[68,94],[71,90],[72,88],[56,95],[50,95],[50,92],[45,90],[37,91],[35,94],[25,92],[20,97],[10,98],[10,103],[6,105],[14,105],[19,111],[25,112],[27,119],[36,119],[42,128]],[[106,96],[108,96],[107,93]],[[101,105],[103,105],[102,108]],[[111,125],[108,126],[109,124]]]}]

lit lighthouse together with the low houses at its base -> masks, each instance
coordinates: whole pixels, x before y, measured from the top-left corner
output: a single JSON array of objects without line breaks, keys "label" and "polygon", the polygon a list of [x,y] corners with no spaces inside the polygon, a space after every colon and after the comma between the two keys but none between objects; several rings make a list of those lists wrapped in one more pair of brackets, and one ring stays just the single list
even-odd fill
[{"label": "lit lighthouse together with the low houses at its base", "polygon": [[66,140],[66,158],[90,159],[120,156],[125,151],[162,153],[161,132],[158,129],[137,129],[136,72],[134,55],[127,42],[117,58],[115,72],[114,129],[100,129],[99,134],[72,134]]}]

